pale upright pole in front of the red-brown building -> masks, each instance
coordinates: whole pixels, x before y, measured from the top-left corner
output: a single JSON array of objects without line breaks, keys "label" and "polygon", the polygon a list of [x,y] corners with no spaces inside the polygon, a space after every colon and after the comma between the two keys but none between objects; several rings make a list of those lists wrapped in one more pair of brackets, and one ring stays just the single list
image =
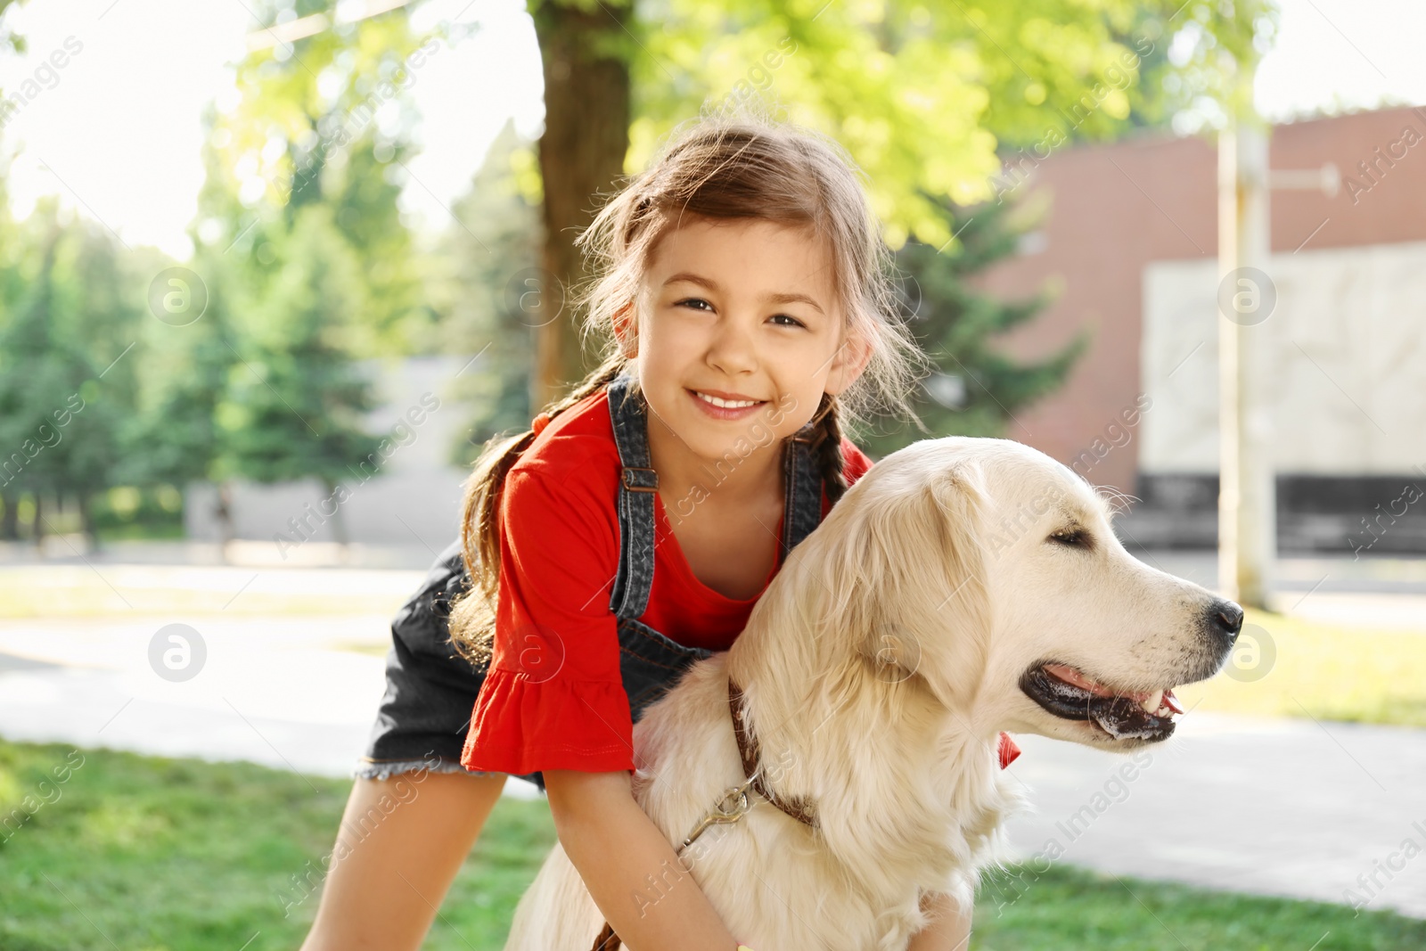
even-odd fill
[{"label": "pale upright pole in front of the red-brown building", "polygon": [[1268,277],[1268,134],[1252,108],[1252,67],[1218,143],[1219,495],[1218,582],[1228,597],[1268,607],[1276,555],[1268,328],[1276,287]]}]

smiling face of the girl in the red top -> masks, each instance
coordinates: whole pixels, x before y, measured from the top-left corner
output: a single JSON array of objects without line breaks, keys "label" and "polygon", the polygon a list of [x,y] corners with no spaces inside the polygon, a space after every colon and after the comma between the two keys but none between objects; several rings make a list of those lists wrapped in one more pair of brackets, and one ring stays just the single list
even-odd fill
[{"label": "smiling face of the girl in the red top", "polygon": [[771,221],[686,217],[655,247],[637,311],[649,409],[703,459],[777,445],[870,359],[846,334],[826,244]]}]

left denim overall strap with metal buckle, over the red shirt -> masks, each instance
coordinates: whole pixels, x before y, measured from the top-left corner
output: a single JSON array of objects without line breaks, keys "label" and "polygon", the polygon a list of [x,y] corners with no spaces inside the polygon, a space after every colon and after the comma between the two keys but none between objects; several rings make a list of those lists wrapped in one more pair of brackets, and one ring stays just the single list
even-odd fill
[{"label": "left denim overall strap with metal buckle, over the red shirt", "polygon": [[616,617],[637,620],[649,606],[653,587],[653,499],[659,473],[649,461],[649,419],[643,396],[630,396],[633,378],[610,381],[609,419],[619,448],[619,573],[609,596]]}]

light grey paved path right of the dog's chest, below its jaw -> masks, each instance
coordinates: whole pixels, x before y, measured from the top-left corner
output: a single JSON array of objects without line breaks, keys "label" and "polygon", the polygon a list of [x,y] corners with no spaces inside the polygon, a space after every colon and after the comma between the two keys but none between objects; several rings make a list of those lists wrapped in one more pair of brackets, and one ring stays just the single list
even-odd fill
[{"label": "light grey paved path right of the dog's chest, below its jaw", "polygon": [[[1127,773],[1128,756],[1017,743],[1010,770],[1035,814],[1011,820],[1010,837],[1018,857],[1040,855],[1032,868],[1062,850],[1077,865],[1233,891],[1353,904],[1352,888],[1366,908],[1426,917],[1426,730],[1194,710]],[[1015,895],[1011,884],[1001,900]]]}]

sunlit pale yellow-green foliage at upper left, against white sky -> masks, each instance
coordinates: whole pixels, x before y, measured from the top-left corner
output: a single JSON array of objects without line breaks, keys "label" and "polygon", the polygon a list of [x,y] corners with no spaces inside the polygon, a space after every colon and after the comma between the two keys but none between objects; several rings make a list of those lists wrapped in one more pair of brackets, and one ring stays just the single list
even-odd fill
[{"label": "sunlit pale yellow-green foliage at upper left, against white sky", "polygon": [[[254,13],[274,21],[284,6]],[[297,11],[331,14],[319,0]],[[265,268],[275,261],[271,247],[262,251],[270,235],[291,232],[308,205],[327,205],[356,265],[358,356],[416,352],[435,319],[396,198],[419,120],[406,90],[443,47],[412,34],[406,17],[398,9],[257,50],[238,64],[237,104],[205,117],[200,237]]]}]

